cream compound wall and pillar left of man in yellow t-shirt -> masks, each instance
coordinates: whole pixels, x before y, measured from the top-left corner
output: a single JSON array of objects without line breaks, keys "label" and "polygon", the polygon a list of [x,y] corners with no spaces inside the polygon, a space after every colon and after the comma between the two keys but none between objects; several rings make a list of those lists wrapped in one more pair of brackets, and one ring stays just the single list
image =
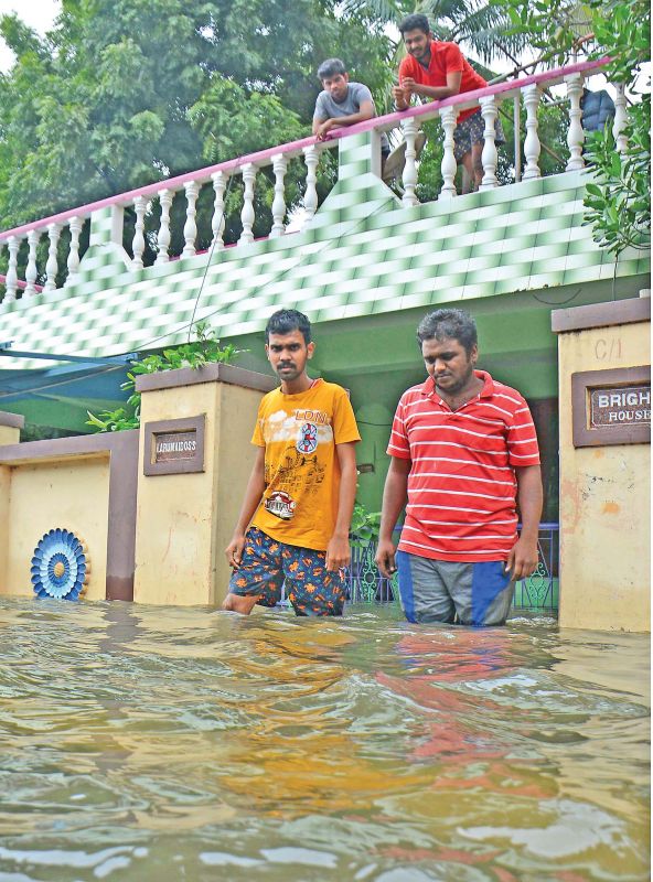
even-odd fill
[{"label": "cream compound wall and pillar left of man in yellow t-shirt", "polygon": [[[227,593],[224,549],[254,463],[258,405],[276,380],[208,365],[139,381],[140,432],[21,444],[22,417],[0,412],[0,595],[33,595],[34,549],[56,527],[86,545],[89,600],[215,604]],[[203,423],[202,471],[182,462],[146,474],[148,427],[174,431],[184,419]]]}]

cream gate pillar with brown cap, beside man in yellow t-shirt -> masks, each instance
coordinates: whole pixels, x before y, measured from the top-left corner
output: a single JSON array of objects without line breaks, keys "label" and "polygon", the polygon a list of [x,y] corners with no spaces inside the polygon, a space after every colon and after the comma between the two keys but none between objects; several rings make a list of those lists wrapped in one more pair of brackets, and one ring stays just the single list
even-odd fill
[{"label": "cream gate pillar with brown cap, beside man in yellow t-shirt", "polygon": [[231,365],[139,377],[133,600],[215,604],[227,593],[227,546],[254,463],[250,438],[272,377]]}]

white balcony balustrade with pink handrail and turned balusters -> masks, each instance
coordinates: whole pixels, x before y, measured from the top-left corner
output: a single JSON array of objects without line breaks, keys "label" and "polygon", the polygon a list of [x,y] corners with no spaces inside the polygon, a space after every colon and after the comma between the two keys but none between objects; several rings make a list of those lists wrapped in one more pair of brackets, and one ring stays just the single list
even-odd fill
[{"label": "white balcony balustrade with pink handrail and turned balusters", "polygon": [[[515,118],[518,119],[521,99],[525,109],[523,173],[520,175],[522,157],[518,157],[518,162],[515,162],[514,178],[516,181],[520,180],[520,176],[526,181],[537,179],[542,175],[539,155],[543,149],[538,132],[538,111],[544,89],[555,85],[566,85],[567,93],[569,128],[567,131],[566,171],[581,170],[585,166],[582,158],[585,132],[581,125],[580,98],[585,78],[600,73],[602,65],[603,62],[585,62],[544,74],[495,84],[475,93],[448,98],[445,101],[419,105],[405,111],[388,114],[385,117],[357,123],[349,129],[332,131],[332,137],[326,141],[317,141],[312,137],[304,138],[301,141],[263,150],[208,169],[201,169],[179,178],[150,184],[92,205],[63,212],[54,217],[25,224],[15,229],[0,232],[0,259],[3,258],[0,260],[0,272],[2,272],[2,267],[6,267],[4,277],[0,276],[0,286],[4,287],[2,301],[9,303],[19,297],[31,298],[41,291],[47,293],[62,286],[67,289],[72,288],[79,279],[81,258],[83,258],[81,239],[84,225],[89,220],[93,224],[96,213],[106,212],[109,207],[127,209],[129,224],[132,225],[133,232],[127,234],[124,226],[122,229],[113,226],[111,233],[108,235],[114,245],[120,247],[125,245],[127,251],[131,251],[130,269],[132,271],[144,271],[149,263],[158,266],[173,259],[193,259],[197,254],[207,249],[213,251],[223,249],[227,227],[227,194],[229,194],[232,228],[229,235],[234,239],[233,224],[237,218],[237,212],[234,214],[234,197],[231,196],[231,189],[238,178],[242,181],[243,194],[242,232],[237,243],[232,241],[232,245],[243,247],[255,241],[256,228],[260,229],[263,223],[260,216],[257,217],[257,212],[260,214],[257,193],[261,187],[269,189],[270,195],[274,193],[271,205],[267,209],[267,219],[263,226],[264,230],[267,227],[267,235],[270,238],[286,235],[289,219],[292,220],[293,230],[303,227],[310,224],[318,211],[318,171],[322,152],[336,147],[340,140],[346,139],[350,135],[368,132],[372,129],[396,130],[397,135],[392,138],[396,142],[403,138],[406,142],[405,164],[400,181],[396,182],[396,186],[403,205],[409,208],[419,203],[417,187],[420,163],[416,142],[422,120],[436,118],[440,120],[443,131],[443,153],[442,185],[439,198],[451,200],[457,195],[458,163],[454,157],[454,132],[459,114],[470,107],[480,107],[484,122],[481,155],[483,176],[480,190],[491,190],[499,186],[500,183],[495,122],[501,112],[501,104],[503,101],[512,104],[513,108],[516,108],[514,109]],[[623,85],[617,84],[615,92],[615,117],[612,132],[618,151],[623,152],[627,148],[624,136],[627,99]],[[291,166],[290,163],[296,161],[297,164]],[[301,166],[303,166],[303,171]],[[291,203],[288,197],[288,176],[291,168],[293,169],[293,186],[304,175],[301,204]],[[202,229],[200,229],[201,225],[197,220],[199,204],[206,204],[202,200],[203,187],[212,191],[210,230],[204,228],[207,224],[205,214]],[[178,196],[180,207],[182,200],[185,205],[185,216],[183,226],[175,229],[174,225],[179,224],[179,212],[173,212],[172,207]],[[263,204],[266,203],[266,200],[259,197],[258,202]],[[269,200],[266,204],[269,205]],[[106,226],[106,217],[104,224]],[[86,238],[84,238],[85,240]],[[104,241],[101,236],[98,240]],[[24,280],[20,278],[21,275],[24,276]]]}]

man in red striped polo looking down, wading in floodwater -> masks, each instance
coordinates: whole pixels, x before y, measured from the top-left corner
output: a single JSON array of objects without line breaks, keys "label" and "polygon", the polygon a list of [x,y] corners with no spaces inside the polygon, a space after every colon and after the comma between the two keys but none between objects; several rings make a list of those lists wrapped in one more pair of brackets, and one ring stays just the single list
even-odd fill
[{"label": "man in red striped polo looking down, wading in floodwater", "polygon": [[[376,563],[386,577],[398,569],[410,622],[503,625],[515,580],[537,567],[533,419],[520,392],[475,369],[471,315],[432,312],[417,341],[429,376],[404,392],[395,413]],[[392,533],[406,502],[395,552]]]}]

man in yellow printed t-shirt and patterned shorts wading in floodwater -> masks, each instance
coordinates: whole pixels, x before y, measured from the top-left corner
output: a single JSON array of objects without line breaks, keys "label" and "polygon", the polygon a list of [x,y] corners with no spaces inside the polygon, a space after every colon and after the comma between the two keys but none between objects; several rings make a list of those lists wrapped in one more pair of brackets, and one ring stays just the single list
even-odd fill
[{"label": "man in yellow printed t-shirt and patterned shorts wading in floodwater", "polygon": [[270,316],[266,354],[281,386],[258,408],[256,462],[225,550],[234,572],[223,610],[274,606],[286,582],[297,615],[342,615],[361,435],[346,391],[308,376],[314,348],[301,312]]}]

